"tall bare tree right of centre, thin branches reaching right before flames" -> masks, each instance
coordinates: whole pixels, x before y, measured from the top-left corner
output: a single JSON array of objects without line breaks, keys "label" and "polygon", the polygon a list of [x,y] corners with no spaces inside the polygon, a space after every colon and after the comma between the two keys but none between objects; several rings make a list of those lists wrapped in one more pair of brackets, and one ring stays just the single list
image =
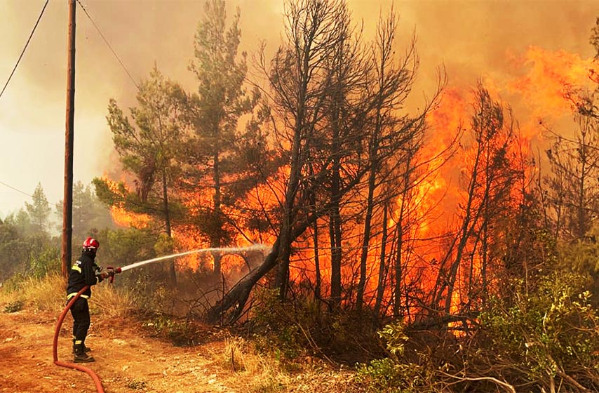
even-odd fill
[{"label": "tall bare tree right of centre, thin branches reaching right before flames", "polygon": [[[375,316],[379,316],[388,286],[393,286],[392,295],[388,296],[389,300],[393,298],[393,314],[399,315],[402,256],[408,250],[403,246],[403,229],[413,223],[404,208],[408,194],[432,172],[425,169],[430,161],[419,161],[415,157],[426,143],[426,116],[438,103],[438,94],[445,85],[444,75],[439,74],[436,93],[423,112],[417,116],[404,113],[405,101],[415,81],[418,56],[415,36],[403,56],[396,54],[397,27],[398,17],[393,9],[386,17],[379,18],[376,38],[370,46],[370,68],[365,85],[370,97],[368,139],[363,142],[368,175],[358,194],[363,195],[358,197],[358,203],[364,208],[359,216],[363,225],[358,236],[356,306],[361,310],[363,304],[374,305]],[[452,145],[433,154],[431,161],[443,161],[440,157]],[[412,208],[422,203],[414,202]]]}]

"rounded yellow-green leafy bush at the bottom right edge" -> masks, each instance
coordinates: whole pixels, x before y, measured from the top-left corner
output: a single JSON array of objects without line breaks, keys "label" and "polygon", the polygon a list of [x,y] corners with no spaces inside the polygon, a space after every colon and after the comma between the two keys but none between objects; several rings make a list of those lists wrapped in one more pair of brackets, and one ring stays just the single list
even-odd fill
[{"label": "rounded yellow-green leafy bush at the bottom right edge", "polygon": [[582,381],[586,371],[597,373],[599,313],[583,284],[584,277],[559,272],[542,278],[534,290],[520,280],[512,298],[492,298],[480,314],[487,349],[513,373],[546,386],[560,373]]}]

